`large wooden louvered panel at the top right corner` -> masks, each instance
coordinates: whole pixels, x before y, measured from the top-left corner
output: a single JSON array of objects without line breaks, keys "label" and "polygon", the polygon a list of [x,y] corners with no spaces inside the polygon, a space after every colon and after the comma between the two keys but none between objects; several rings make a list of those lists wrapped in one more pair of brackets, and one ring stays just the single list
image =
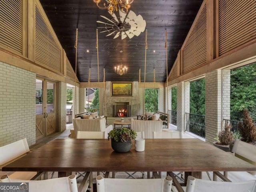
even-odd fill
[{"label": "large wooden louvered panel at the top right corner", "polygon": [[219,55],[256,38],[256,1],[220,0]]}]

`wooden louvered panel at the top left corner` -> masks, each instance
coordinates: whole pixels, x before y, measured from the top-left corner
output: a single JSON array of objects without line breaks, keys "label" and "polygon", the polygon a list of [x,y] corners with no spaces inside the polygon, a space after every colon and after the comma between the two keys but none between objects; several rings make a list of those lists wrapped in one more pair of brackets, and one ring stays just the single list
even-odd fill
[{"label": "wooden louvered panel at the top left corner", "polygon": [[22,0],[0,0],[0,45],[22,54]]}]

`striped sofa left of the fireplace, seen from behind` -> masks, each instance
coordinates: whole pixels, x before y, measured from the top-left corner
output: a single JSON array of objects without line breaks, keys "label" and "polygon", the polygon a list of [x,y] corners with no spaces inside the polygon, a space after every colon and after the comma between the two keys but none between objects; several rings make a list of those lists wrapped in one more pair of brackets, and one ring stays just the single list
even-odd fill
[{"label": "striped sofa left of the fireplace, seen from behind", "polygon": [[108,132],[113,129],[112,125],[106,127],[106,118],[97,119],[81,119],[80,117],[73,119],[74,134],[71,138],[76,138],[77,131],[105,131],[105,138],[108,137]]}]

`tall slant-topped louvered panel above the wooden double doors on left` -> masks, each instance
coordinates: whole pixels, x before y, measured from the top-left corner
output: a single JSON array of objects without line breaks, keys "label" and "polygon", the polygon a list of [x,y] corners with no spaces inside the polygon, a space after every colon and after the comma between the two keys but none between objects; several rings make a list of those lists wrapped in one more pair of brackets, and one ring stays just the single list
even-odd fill
[{"label": "tall slant-topped louvered panel above the wooden double doors on left", "polygon": [[36,5],[36,63],[61,72],[61,48],[54,38],[53,32]]}]

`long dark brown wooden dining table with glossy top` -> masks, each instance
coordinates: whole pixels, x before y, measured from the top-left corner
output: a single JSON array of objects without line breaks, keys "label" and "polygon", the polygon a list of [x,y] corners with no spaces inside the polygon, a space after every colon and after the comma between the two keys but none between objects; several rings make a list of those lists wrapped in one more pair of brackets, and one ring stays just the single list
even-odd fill
[{"label": "long dark brown wooden dining table with glossy top", "polygon": [[[117,153],[107,139],[55,139],[3,171],[204,172],[256,171],[256,166],[199,139],[146,139],[145,150]],[[196,175],[196,174],[195,174]]]}]

